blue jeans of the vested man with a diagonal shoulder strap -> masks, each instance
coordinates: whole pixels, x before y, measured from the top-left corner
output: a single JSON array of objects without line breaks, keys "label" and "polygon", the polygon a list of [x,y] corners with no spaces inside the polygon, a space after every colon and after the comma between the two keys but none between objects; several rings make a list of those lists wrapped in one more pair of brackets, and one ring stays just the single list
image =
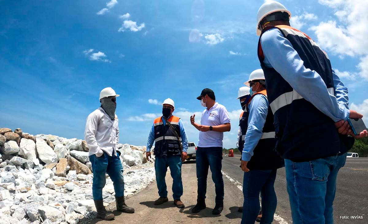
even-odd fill
[{"label": "blue jeans of the vested man with a diagonal shoulder strap", "polygon": [[170,167],[170,174],[173,178],[173,198],[180,199],[183,195],[183,182],[181,182],[181,155],[176,156],[156,156],[155,172],[156,183],[159,189],[160,197],[167,197],[166,187],[166,172],[167,167]]}]

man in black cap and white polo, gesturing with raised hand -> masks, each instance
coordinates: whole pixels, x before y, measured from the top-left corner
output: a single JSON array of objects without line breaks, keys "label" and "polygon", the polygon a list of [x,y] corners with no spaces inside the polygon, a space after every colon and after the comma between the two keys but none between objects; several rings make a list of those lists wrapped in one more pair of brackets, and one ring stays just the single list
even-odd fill
[{"label": "man in black cap and white polo, gesturing with raised hand", "polygon": [[212,214],[220,214],[224,207],[224,180],[222,178],[222,139],[223,132],[230,131],[230,117],[224,106],[216,103],[212,89],[204,89],[197,97],[201,105],[206,107],[202,113],[201,124],[194,121],[195,115],[190,117],[191,124],[199,131],[198,148],[196,152],[196,166],[198,179],[197,205],[192,209],[197,213],[206,208],[206,188],[208,167],[212,172],[215,183],[216,205]]}]

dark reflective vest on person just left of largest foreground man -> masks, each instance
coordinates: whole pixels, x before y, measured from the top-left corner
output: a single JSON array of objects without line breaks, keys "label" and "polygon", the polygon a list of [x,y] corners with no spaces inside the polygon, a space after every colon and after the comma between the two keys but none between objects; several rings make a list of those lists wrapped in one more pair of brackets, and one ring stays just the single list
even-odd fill
[{"label": "dark reflective vest on person just left of largest foreground man", "polygon": [[[248,118],[249,118],[249,109],[248,105],[251,103],[254,96],[262,94],[267,97],[266,90],[255,93],[247,103],[247,107],[243,112],[243,121],[241,121],[241,131],[242,131],[242,139],[244,147],[245,133],[248,129]],[[247,114],[247,115],[244,115]],[[244,130],[244,132],[243,132]],[[273,114],[271,112],[270,107],[268,107],[268,113],[266,116],[265,125],[262,128],[262,137],[259,139],[256,147],[253,150],[253,156],[247,164],[247,168],[250,170],[273,170],[284,167],[284,160],[280,157],[280,155],[274,150],[275,149],[275,127],[273,126]],[[244,134],[244,135],[243,135]],[[240,147],[240,143],[239,143]]]}]

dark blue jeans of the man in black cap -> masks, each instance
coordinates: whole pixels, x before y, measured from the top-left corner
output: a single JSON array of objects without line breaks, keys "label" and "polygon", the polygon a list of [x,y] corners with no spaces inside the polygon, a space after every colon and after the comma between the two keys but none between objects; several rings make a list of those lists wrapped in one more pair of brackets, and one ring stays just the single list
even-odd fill
[{"label": "dark blue jeans of the man in black cap", "polygon": [[222,178],[222,147],[198,147],[195,153],[198,199],[206,198],[208,167],[212,172],[212,181],[215,183],[216,204],[224,201],[224,180]]}]

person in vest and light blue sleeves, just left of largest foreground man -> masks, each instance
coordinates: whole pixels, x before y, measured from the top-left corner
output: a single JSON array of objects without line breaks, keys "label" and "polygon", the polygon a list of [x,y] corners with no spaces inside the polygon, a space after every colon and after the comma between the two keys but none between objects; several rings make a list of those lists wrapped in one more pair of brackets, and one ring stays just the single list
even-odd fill
[{"label": "person in vest and light blue sleeves, just left of largest foreground man", "polygon": [[284,160],[275,148],[275,127],[270,109],[266,82],[262,69],[250,74],[244,83],[250,86],[250,99],[244,110],[241,129],[245,131],[241,169],[243,179],[242,224],[254,224],[259,215],[259,193],[261,193],[261,223],[272,223],[276,211],[277,198],[274,189],[276,171],[284,167]]}]

